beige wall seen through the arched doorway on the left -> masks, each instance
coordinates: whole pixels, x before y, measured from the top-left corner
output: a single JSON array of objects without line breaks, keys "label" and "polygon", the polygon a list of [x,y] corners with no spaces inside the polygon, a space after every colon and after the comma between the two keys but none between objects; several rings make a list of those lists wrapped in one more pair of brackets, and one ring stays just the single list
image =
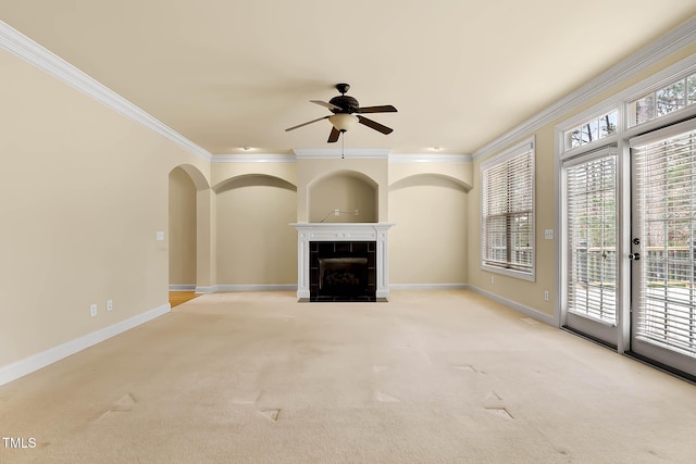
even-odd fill
[{"label": "beige wall seen through the arched doorway on the left", "polygon": [[196,285],[196,186],[176,167],[170,173],[170,284]]}]

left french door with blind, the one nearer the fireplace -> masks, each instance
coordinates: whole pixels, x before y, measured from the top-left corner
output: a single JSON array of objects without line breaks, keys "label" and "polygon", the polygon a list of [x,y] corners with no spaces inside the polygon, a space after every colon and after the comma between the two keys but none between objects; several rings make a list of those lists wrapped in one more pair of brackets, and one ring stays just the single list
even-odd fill
[{"label": "left french door with blind, the one nearer the fireplace", "polygon": [[617,150],[563,162],[562,325],[617,343]]}]

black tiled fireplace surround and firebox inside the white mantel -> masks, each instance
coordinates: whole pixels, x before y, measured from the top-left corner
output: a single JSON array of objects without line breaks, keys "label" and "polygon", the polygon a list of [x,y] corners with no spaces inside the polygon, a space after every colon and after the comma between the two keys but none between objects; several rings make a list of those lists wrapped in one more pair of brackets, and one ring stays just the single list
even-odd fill
[{"label": "black tiled fireplace surround and firebox inside the white mantel", "polygon": [[310,301],[375,301],[376,242],[310,241]]}]

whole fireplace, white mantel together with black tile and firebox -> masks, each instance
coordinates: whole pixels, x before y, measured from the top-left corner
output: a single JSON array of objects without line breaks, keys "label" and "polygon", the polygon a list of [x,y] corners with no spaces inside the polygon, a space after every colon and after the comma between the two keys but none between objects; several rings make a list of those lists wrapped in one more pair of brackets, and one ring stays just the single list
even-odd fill
[{"label": "whole fireplace, white mantel together with black tile and firebox", "polygon": [[388,223],[294,223],[300,301],[386,301]]}]

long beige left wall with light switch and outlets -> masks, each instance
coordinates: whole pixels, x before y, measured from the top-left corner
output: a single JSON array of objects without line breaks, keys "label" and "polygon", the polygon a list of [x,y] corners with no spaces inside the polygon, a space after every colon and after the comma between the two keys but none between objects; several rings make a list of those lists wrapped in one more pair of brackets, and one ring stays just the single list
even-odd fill
[{"label": "long beige left wall with light switch and outlets", "polygon": [[2,50],[0,75],[4,366],[166,305],[169,173],[208,167]]}]

